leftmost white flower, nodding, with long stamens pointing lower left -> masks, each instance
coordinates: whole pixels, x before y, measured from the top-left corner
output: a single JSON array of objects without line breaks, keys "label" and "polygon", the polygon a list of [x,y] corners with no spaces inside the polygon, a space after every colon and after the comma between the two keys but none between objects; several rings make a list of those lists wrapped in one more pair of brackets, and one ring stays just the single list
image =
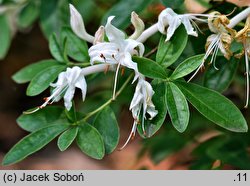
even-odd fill
[{"label": "leftmost white flower, nodding, with long stamens pointing lower left", "polygon": [[41,106],[29,113],[36,112],[48,104],[59,101],[62,96],[64,98],[64,106],[67,110],[70,110],[76,88],[81,89],[82,99],[84,101],[87,92],[87,84],[85,77],[81,72],[82,69],[79,67],[67,68],[66,72],[61,72],[58,76],[57,82],[50,85],[51,87],[54,87],[51,96],[45,98],[45,102]]}]

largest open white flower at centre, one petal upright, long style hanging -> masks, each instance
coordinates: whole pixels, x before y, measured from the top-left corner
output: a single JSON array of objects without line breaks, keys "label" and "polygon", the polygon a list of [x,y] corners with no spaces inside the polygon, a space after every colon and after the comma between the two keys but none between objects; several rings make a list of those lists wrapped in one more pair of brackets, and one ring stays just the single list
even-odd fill
[{"label": "largest open white flower at centre, one petal upright, long style hanging", "polygon": [[[92,65],[94,62],[117,65],[113,93],[114,98],[120,66],[133,69],[136,74],[138,74],[137,64],[133,62],[132,55],[142,56],[144,53],[144,46],[136,40],[126,39],[125,34],[111,24],[113,19],[114,16],[110,16],[105,26],[105,33],[109,42],[97,43],[90,47],[89,56]],[[135,79],[137,77],[138,75],[136,75]]]}]

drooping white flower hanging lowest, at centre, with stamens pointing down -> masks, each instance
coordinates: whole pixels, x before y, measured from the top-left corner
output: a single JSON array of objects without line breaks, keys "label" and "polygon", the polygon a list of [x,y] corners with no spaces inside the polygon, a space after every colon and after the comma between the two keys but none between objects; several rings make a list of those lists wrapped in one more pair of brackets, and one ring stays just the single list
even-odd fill
[{"label": "drooping white flower hanging lowest, at centre, with stamens pointing down", "polygon": [[[142,130],[144,134],[146,134],[144,126],[144,119],[146,119],[146,114],[150,116],[150,120],[152,120],[158,114],[158,111],[155,110],[154,103],[152,102],[153,94],[154,90],[150,83],[148,83],[143,76],[140,76],[136,85],[135,94],[129,108],[132,112],[134,123],[127,141],[120,149],[123,149],[128,144],[130,139],[135,136],[137,125],[139,123],[142,124]],[[140,121],[140,118],[142,119],[142,121]]]}]

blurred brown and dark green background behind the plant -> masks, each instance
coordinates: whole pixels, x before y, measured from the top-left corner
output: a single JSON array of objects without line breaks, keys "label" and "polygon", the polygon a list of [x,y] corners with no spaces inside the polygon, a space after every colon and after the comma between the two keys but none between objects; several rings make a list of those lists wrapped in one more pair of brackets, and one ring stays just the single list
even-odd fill
[{"label": "blurred brown and dark green background behind the plant", "polygon": [[[51,5],[53,4],[51,3],[53,0],[45,1],[47,1],[47,5],[46,3],[45,5],[38,3],[38,6],[41,9],[51,10],[51,8],[53,8]],[[4,7],[4,1],[0,2],[2,3],[0,4],[1,13],[3,9],[1,9],[1,7]],[[57,1],[58,7],[57,10],[54,11],[59,11],[60,9],[68,10],[68,5],[65,2],[64,0]],[[77,3],[77,1],[73,2]],[[103,15],[109,8],[119,3],[119,1],[115,0],[83,0],[82,2],[81,6],[77,8],[82,13],[86,29],[91,34],[99,27]],[[134,3],[136,3],[136,1],[134,1]],[[230,3],[229,1],[217,1],[216,3],[218,5],[234,7],[235,4],[238,6],[248,6],[250,1],[230,0]],[[186,0],[180,12],[185,10],[185,12],[202,13],[209,8],[211,8],[211,4],[206,0]],[[139,15],[145,21],[146,26],[150,26],[157,21],[157,16],[163,9],[164,5],[160,1],[155,0],[151,1],[143,11],[140,11]],[[9,50],[6,52],[6,56],[0,60],[0,161],[2,161],[5,153],[17,141],[28,134],[18,127],[16,123],[17,117],[24,110],[41,104],[41,98],[49,94],[49,91],[45,91],[41,96],[27,97],[25,94],[27,85],[18,85],[11,79],[11,76],[15,72],[28,64],[51,58],[48,41],[46,39],[50,34],[50,30],[46,30],[46,24],[49,23],[42,21],[42,15],[38,18],[40,9],[37,10],[38,13],[33,12],[37,15],[34,16],[34,19],[31,20],[28,26],[17,24],[16,15],[18,11],[20,10],[10,11],[9,13],[12,41]],[[60,21],[60,23],[57,22],[56,24],[58,25],[54,25],[54,27],[64,24],[61,23],[62,20],[69,24],[68,14],[64,15],[59,12],[53,16],[60,18],[57,20]],[[0,30],[1,29],[0,27]],[[56,28],[55,31],[57,31]],[[128,27],[127,32],[131,33],[132,28]],[[155,36],[155,38],[149,41],[149,46],[157,44],[159,36]],[[104,87],[106,86],[105,88],[111,88],[109,86],[112,86],[112,76],[109,79],[110,81],[107,82],[107,86],[103,85]],[[91,91],[96,90],[95,84],[98,84],[98,78],[90,85],[89,94],[91,94]],[[235,84],[231,86],[225,94],[238,103],[239,97],[244,97],[244,89],[237,87]],[[120,144],[118,146],[121,146],[125,142],[133,123],[133,118],[128,110],[129,105],[125,104],[126,101],[124,101],[131,99],[131,95],[127,95],[130,95],[129,90],[125,91],[123,96],[121,96],[123,106],[116,108],[117,116],[119,116],[117,119],[121,130]],[[107,97],[98,97],[97,101],[99,101],[99,99],[105,100]],[[129,103],[129,101],[126,103]],[[86,109],[84,108],[84,104],[79,104],[77,107],[80,110]],[[243,110],[243,113],[249,122],[249,109]],[[204,119],[200,114],[196,113],[194,109],[191,119],[191,125],[184,134],[179,134],[173,130],[173,127],[169,127],[170,123],[167,123],[167,121],[169,121],[167,120],[166,125],[159,131],[158,135],[148,140],[141,140],[139,137],[136,137],[124,150],[114,151],[100,161],[88,158],[81,153],[75,145],[65,152],[60,152],[56,147],[56,141],[53,141],[44,149],[20,163],[7,167],[0,165],[0,169],[208,169],[209,167],[217,168],[221,166],[223,166],[223,169],[244,169],[250,166],[249,132],[244,135],[228,133],[226,134],[227,138],[216,139],[216,137],[220,138],[218,135],[221,131],[216,128],[214,124]],[[193,136],[194,134],[198,135]],[[218,148],[215,147],[212,156],[209,156],[209,154],[206,154],[205,149],[209,147],[209,144],[210,146],[211,144],[213,145],[214,140],[219,140],[221,143],[218,145],[218,142],[216,142],[215,146],[217,145]],[[247,142],[242,144],[242,141]],[[203,144],[203,146],[199,146],[200,144]],[[243,145],[243,147],[239,147],[240,145]],[[197,149],[197,147],[199,148]],[[194,149],[195,153],[193,153]],[[226,160],[222,160],[220,157],[223,153],[229,154],[230,157],[226,157]],[[235,158],[237,161],[241,159],[239,160],[240,162],[228,163],[235,161]]]}]

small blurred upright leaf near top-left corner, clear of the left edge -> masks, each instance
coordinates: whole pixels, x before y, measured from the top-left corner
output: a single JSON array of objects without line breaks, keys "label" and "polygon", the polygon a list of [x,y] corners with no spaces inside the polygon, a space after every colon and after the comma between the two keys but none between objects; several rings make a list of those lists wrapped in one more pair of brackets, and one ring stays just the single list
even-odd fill
[{"label": "small blurred upright leaf near top-left corner, clear of the left edge", "polygon": [[17,24],[21,28],[30,26],[39,16],[39,1],[30,1],[19,13]]}]

